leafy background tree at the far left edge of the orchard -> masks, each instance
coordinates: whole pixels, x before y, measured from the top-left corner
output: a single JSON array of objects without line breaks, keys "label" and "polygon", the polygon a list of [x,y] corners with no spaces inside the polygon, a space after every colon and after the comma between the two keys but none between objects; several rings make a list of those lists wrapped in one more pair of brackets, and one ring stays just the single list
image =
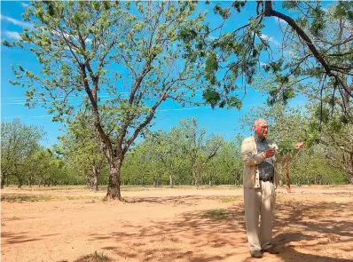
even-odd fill
[{"label": "leafy background tree at the far left edge of the orchard", "polygon": [[35,167],[28,163],[41,148],[39,141],[43,136],[42,128],[20,123],[18,118],[1,123],[1,188],[6,176],[15,176],[22,187],[27,174],[35,172]]}]

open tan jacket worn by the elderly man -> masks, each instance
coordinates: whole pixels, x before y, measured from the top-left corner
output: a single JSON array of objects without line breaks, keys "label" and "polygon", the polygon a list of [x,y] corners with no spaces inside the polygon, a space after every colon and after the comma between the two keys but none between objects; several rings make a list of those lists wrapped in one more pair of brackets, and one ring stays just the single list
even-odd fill
[{"label": "open tan jacket worn by the elderly man", "polygon": [[[266,139],[269,147],[278,149],[278,146],[273,143],[270,139]],[[274,174],[273,174],[273,185],[275,188],[278,187],[279,177],[278,177],[278,162],[287,162],[294,158],[294,156],[298,153],[291,153],[289,155],[285,155],[280,157],[280,159],[276,159],[276,156],[272,157],[273,165],[274,165]],[[260,187],[260,179],[259,179],[259,169],[258,165],[263,162],[265,159],[263,153],[257,153],[255,137],[251,136],[247,139],[244,139],[241,143],[241,158],[244,163],[244,171],[243,171],[243,185],[245,188],[258,188]]]}]

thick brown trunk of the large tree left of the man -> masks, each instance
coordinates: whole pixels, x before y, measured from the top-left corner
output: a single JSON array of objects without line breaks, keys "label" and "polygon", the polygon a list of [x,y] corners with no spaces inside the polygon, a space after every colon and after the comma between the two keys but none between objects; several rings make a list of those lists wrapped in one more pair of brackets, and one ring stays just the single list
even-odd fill
[{"label": "thick brown trunk of the large tree left of the man", "polygon": [[117,159],[109,163],[109,183],[105,200],[118,199],[122,201],[120,192],[122,161]]}]

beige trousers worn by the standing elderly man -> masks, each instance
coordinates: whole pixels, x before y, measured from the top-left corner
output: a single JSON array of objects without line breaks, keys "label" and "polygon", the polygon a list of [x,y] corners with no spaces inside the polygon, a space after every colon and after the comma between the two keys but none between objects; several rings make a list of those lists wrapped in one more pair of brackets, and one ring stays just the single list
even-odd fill
[{"label": "beige trousers worn by the standing elderly man", "polygon": [[259,188],[244,188],[245,221],[250,250],[265,250],[271,247],[275,201],[276,191],[270,181],[261,181]]}]

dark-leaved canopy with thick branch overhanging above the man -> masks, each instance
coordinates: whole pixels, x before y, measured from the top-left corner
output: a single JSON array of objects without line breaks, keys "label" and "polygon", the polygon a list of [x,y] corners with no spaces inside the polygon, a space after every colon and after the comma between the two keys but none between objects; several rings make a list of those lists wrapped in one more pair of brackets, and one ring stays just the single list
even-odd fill
[{"label": "dark-leaved canopy with thick branch overhanging above the man", "polygon": [[[234,23],[237,26],[224,30],[224,24],[236,20],[236,13],[246,4],[253,4],[254,16],[243,25]],[[282,89],[284,99],[293,98],[293,85],[304,84],[307,79],[318,79],[316,86],[309,87],[309,94],[318,90],[343,100],[353,97],[352,3],[340,1],[326,10],[320,1],[283,1],[283,12],[276,10],[277,4],[219,3],[214,12],[222,17],[222,23],[197,31],[190,28],[185,33],[189,36],[184,41],[185,57],[204,63],[208,89],[203,96],[212,107],[241,107],[247,84],[254,84],[255,76],[270,72],[278,84],[286,85]],[[271,36],[263,35],[269,17],[283,21],[279,25],[283,38],[276,52],[271,48]],[[337,30],[339,34],[335,34]],[[216,33],[219,36],[215,38]],[[343,115],[350,115],[347,101],[341,107]]]}]

